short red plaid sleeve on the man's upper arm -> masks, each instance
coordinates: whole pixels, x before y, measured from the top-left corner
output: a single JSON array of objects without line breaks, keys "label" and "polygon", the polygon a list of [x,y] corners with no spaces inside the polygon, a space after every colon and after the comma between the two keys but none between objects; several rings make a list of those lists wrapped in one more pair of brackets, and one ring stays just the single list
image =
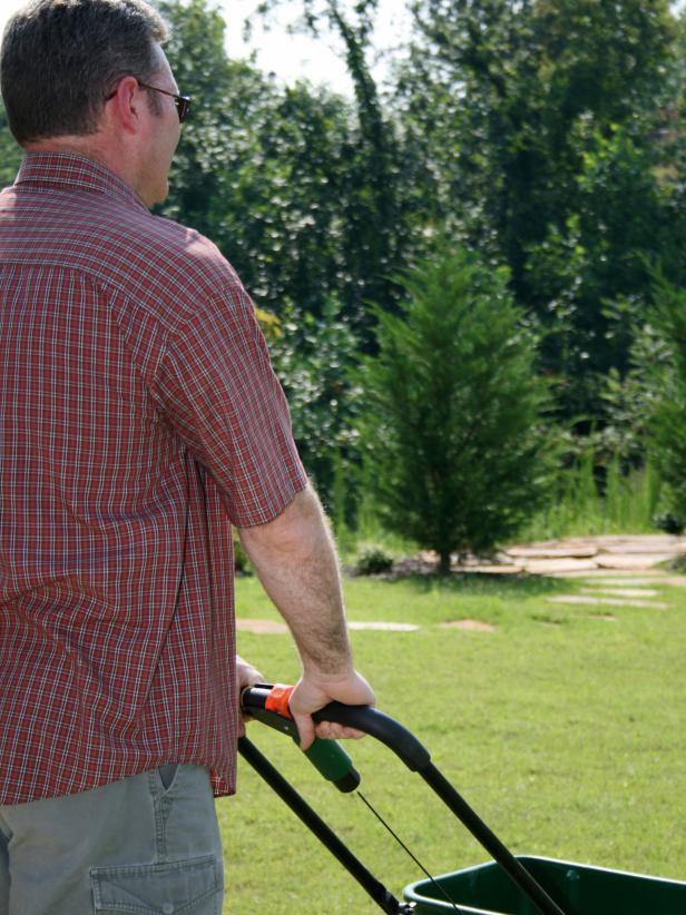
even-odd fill
[{"label": "short red plaid sleeve on the man's upper arm", "polygon": [[286,399],[238,282],[170,335],[153,393],[237,527],[273,520],[305,488]]}]

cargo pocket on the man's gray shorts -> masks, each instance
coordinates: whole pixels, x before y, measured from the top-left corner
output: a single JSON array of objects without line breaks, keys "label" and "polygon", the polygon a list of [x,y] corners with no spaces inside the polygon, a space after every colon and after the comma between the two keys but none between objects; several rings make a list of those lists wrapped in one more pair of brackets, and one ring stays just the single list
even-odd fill
[{"label": "cargo pocket on the man's gray shorts", "polygon": [[219,915],[222,883],[214,855],[90,870],[97,915]]}]

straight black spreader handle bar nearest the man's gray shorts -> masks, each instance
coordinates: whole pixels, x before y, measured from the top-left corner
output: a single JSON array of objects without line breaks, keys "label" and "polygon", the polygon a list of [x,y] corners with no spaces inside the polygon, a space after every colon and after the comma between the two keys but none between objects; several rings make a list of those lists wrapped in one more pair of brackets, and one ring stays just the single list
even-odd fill
[{"label": "straight black spreader handle bar nearest the man's gray shorts", "polygon": [[312,809],[288,781],[263,756],[257,747],[247,737],[238,738],[238,752],[255,771],[262,776],[272,790],[284,800],[293,813],[307,826],[320,842],[334,855],[337,860],[352,874],[362,888],[371,896],[380,908],[388,915],[409,915],[414,906],[401,903],[390,893],[376,877],[367,870],[362,862],[344,845],[336,834]]}]

